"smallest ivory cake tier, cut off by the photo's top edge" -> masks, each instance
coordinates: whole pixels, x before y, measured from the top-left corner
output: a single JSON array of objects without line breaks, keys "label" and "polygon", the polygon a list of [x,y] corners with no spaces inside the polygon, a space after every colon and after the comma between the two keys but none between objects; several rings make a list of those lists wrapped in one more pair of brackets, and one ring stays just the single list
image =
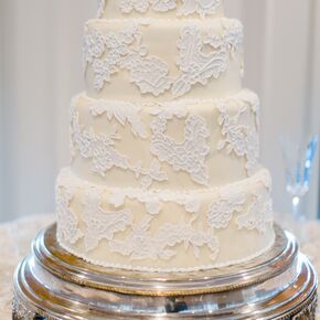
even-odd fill
[{"label": "smallest ivory cake tier, cut off by the photo's top edge", "polygon": [[222,17],[222,0],[98,0],[98,18]]}]

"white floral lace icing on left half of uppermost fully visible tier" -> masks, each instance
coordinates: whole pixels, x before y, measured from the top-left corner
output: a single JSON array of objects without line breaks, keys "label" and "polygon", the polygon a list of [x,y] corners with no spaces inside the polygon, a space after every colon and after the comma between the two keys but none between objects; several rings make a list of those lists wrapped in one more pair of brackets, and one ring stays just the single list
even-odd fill
[{"label": "white floral lace icing on left half of uppermost fully visible tier", "polygon": [[89,32],[84,39],[84,63],[94,70],[94,87],[100,90],[111,76],[119,71],[128,71],[131,82],[141,94],[159,96],[171,86],[168,65],[156,56],[149,56],[142,46],[142,34],[137,25],[124,31],[109,31],[103,35]]}]

